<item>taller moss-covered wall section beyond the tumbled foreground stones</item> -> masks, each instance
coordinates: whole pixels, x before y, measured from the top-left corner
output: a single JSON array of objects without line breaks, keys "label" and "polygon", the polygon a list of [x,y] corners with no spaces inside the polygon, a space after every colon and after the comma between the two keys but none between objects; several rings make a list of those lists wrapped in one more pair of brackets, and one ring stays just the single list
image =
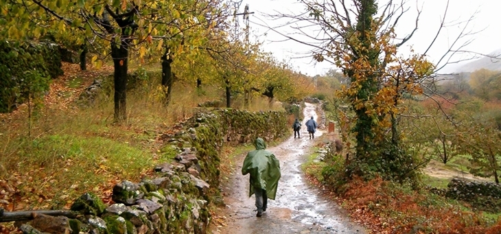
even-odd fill
[{"label": "taller moss-covered wall section beyond the tumbled foreground stones", "polygon": [[171,141],[177,145],[194,147],[200,159],[200,178],[211,185],[211,193],[217,196],[219,188],[220,150],[223,144],[253,143],[257,137],[266,142],[288,134],[286,112],[249,112],[232,108],[201,109],[183,126],[185,130]]}]

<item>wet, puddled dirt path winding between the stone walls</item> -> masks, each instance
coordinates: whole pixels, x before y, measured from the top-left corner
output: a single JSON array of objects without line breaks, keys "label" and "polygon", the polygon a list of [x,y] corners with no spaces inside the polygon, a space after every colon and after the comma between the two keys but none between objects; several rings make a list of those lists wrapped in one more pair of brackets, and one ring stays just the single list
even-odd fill
[{"label": "wet, puddled dirt path winding between the stone walls", "polygon": [[[226,218],[226,226],[213,227],[212,233],[364,233],[361,226],[349,221],[337,204],[321,196],[321,191],[303,178],[301,163],[318,140],[310,140],[305,127],[310,117],[316,119],[315,108],[313,104],[306,104],[301,139],[294,139],[292,135],[267,149],[280,160],[282,175],[277,199],[268,200],[268,210],[261,218],[255,216],[255,198],[248,197],[248,175],[241,173],[245,155],[241,155],[235,162],[232,178],[223,187],[226,208],[219,215]],[[318,130],[316,137],[322,133]]]}]

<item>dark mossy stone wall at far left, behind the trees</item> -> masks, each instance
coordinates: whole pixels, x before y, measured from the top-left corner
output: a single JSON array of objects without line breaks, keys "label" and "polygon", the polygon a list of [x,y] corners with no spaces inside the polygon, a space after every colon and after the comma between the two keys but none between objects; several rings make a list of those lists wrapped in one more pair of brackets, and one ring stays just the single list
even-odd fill
[{"label": "dark mossy stone wall at far left, behind the trees", "polygon": [[25,42],[0,40],[0,113],[16,104],[16,86],[27,69],[45,77],[62,75],[59,45],[50,41]]}]

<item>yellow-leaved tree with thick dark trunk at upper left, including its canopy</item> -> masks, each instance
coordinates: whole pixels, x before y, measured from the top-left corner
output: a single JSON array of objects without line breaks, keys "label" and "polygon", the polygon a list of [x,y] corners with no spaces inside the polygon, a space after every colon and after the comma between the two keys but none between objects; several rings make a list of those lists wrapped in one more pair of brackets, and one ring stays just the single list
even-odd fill
[{"label": "yellow-leaved tree with thick dark trunk at upper left, including its canopy", "polygon": [[[176,54],[195,51],[205,42],[200,31],[210,32],[217,23],[213,21],[213,16],[219,16],[218,10],[225,8],[221,1],[215,0],[2,0],[0,3],[2,23],[6,26],[2,33],[8,38],[43,36],[49,30],[80,30],[87,46],[100,54],[94,56],[92,62],[99,67],[102,65],[99,57],[105,59],[111,56],[116,121],[124,121],[127,117],[126,83],[130,52],[137,54],[133,58],[142,62],[147,54],[166,51],[163,54],[167,61],[164,65],[170,65],[172,51]],[[34,32],[24,30],[30,26],[35,27]],[[165,72],[165,75],[171,74]],[[164,84],[170,83],[169,78],[163,78]]]}]

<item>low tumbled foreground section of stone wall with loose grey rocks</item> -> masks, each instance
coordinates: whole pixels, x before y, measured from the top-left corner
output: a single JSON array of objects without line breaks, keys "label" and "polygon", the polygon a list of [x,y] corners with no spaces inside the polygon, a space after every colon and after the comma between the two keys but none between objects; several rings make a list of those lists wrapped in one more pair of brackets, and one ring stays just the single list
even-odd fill
[{"label": "low tumbled foreground section of stone wall with loose grey rocks", "polygon": [[[92,193],[71,206],[77,219],[39,215],[21,225],[25,233],[206,233],[209,223],[209,184],[198,178],[196,152],[187,148],[176,156],[178,162],[154,167],[159,177],[140,183],[122,181],[113,187],[115,204],[106,207]],[[40,222],[40,219],[45,220]],[[54,229],[57,226],[57,229]]]}]

